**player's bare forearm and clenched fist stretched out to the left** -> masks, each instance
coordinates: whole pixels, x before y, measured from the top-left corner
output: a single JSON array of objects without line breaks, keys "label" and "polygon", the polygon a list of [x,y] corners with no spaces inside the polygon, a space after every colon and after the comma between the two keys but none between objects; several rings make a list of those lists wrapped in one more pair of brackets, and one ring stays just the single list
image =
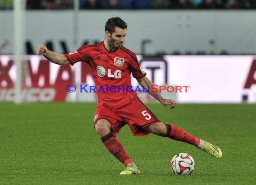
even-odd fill
[{"label": "player's bare forearm and clenched fist stretched out to the left", "polygon": [[51,50],[49,50],[45,45],[39,44],[36,48],[36,54],[37,55],[43,55],[45,58],[47,58],[49,61],[63,65],[68,64],[68,60],[66,59],[65,55],[60,53],[55,53]]}]

